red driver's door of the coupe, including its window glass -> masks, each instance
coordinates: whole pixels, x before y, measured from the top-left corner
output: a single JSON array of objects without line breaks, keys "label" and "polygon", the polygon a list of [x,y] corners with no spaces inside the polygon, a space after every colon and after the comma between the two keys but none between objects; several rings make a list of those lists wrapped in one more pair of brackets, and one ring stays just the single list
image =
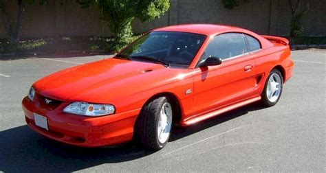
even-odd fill
[{"label": "red driver's door of the coupe, including its window glass", "polygon": [[221,58],[222,63],[195,69],[194,115],[253,96],[256,65],[254,57],[248,53],[243,34],[227,33],[215,36],[201,61],[209,56]]}]

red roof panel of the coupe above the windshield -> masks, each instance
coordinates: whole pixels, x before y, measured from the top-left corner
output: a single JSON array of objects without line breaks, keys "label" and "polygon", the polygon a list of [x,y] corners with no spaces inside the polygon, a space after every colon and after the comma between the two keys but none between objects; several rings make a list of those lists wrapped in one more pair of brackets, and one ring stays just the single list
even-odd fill
[{"label": "red roof panel of the coupe above the windshield", "polygon": [[241,30],[239,27],[228,25],[215,25],[215,24],[186,24],[186,25],[171,25],[168,27],[157,28],[153,31],[166,31],[166,32],[191,32],[197,34],[213,35],[218,32]]}]

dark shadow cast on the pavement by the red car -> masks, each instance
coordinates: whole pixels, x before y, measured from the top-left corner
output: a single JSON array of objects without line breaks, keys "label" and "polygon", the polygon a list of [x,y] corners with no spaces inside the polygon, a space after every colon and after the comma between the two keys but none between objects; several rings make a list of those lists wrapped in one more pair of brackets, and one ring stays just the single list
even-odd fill
[{"label": "dark shadow cast on the pavement by the red car", "polygon": [[[175,128],[170,141],[182,139],[261,108],[263,107],[259,104],[250,104],[200,122],[196,126]],[[0,172],[73,172],[104,163],[140,159],[153,153],[135,145],[116,148],[78,148],[47,139],[28,126],[0,132]]]}]

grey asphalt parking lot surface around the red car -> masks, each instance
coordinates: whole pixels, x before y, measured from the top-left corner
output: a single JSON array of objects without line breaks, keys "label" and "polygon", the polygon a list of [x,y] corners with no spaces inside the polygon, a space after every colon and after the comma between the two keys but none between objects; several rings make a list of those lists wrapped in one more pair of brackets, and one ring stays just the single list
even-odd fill
[{"label": "grey asphalt parking lot surface around the red car", "polygon": [[276,106],[250,104],[175,128],[159,152],[76,148],[25,125],[21,100],[34,81],[102,58],[0,61],[0,172],[325,172],[325,49],[292,51],[294,76]]}]

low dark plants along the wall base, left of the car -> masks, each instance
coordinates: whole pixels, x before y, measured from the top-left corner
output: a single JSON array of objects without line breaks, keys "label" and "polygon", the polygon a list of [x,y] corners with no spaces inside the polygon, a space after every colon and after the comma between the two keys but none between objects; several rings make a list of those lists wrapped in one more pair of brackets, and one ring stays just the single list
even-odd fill
[{"label": "low dark plants along the wall base, left of the car", "polygon": [[[130,41],[135,41],[142,35],[132,36]],[[36,54],[111,54],[122,49],[126,44],[117,44],[113,37],[69,37],[41,38],[19,41],[12,45],[6,39],[0,39],[0,56],[6,54],[18,54],[19,56],[30,56]],[[4,55],[1,55],[4,54]],[[1,59],[1,58],[0,58]]]}]

